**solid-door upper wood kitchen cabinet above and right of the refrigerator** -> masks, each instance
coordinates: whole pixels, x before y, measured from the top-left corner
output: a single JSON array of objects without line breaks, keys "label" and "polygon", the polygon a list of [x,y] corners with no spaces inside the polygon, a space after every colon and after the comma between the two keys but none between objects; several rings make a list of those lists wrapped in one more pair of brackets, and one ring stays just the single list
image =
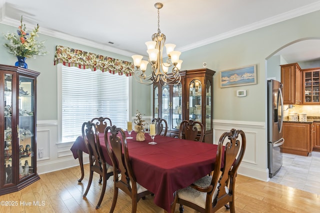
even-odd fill
[{"label": "solid-door upper wood kitchen cabinet above and right of the refrigerator", "polygon": [[297,63],[280,65],[283,104],[302,104],[302,71]]}]

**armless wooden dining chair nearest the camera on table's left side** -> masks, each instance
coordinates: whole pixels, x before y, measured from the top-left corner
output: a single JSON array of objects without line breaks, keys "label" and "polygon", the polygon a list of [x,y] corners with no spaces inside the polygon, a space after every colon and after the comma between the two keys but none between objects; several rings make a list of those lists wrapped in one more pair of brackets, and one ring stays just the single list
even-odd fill
[{"label": "armless wooden dining chair nearest the camera on table's left side", "polygon": [[140,186],[135,180],[124,131],[121,128],[116,128],[116,126],[108,126],[104,130],[104,143],[112,161],[113,173],[121,174],[113,176],[114,192],[110,213],[114,211],[118,189],[131,197],[131,212],[135,213],[137,202],[151,192]]}]

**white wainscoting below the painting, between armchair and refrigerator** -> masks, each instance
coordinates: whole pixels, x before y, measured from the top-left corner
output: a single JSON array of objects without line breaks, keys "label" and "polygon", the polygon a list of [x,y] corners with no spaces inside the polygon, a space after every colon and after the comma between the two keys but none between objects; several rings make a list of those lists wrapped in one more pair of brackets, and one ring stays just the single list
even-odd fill
[{"label": "white wainscoting below the painting, between armchair and refrigerator", "polygon": [[244,157],[238,173],[262,181],[268,181],[266,129],[263,122],[213,120],[213,143],[231,129],[240,129],[246,138]]}]

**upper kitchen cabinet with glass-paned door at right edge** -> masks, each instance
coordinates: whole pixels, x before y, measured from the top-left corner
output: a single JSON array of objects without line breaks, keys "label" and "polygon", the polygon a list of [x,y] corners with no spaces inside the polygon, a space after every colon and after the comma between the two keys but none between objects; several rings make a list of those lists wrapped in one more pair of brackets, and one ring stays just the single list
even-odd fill
[{"label": "upper kitchen cabinet with glass-paned door at right edge", "polygon": [[320,67],[303,69],[303,103],[319,104],[319,72]]}]

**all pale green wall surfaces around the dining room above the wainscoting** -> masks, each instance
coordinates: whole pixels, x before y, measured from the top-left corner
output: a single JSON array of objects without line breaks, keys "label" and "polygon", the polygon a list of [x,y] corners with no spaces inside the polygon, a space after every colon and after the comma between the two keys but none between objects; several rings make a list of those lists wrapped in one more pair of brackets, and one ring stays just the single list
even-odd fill
[{"label": "all pale green wall surfaces around the dining room above the wainscoting", "polygon": [[[202,67],[216,71],[213,77],[214,119],[238,121],[265,121],[266,58],[278,48],[297,39],[320,37],[320,11],[272,24],[241,35],[233,36],[181,54],[182,70]],[[0,24],[0,33],[14,32],[16,27]],[[41,30],[41,26],[40,26]],[[49,54],[27,59],[28,68],[39,71],[37,85],[37,119],[57,119],[57,80],[56,66],[53,65],[56,45],[94,52],[101,55],[131,61],[130,57],[88,47],[74,42],[40,35],[39,40],[46,40]],[[0,37],[0,63],[13,65],[16,58],[7,53],[3,46],[6,40]],[[257,65],[257,84],[240,87],[219,87],[220,71],[247,65]],[[145,115],[151,115],[151,87],[132,80],[131,84],[132,115],[138,109]],[[236,97],[236,90],[245,89],[246,97]]]}]

